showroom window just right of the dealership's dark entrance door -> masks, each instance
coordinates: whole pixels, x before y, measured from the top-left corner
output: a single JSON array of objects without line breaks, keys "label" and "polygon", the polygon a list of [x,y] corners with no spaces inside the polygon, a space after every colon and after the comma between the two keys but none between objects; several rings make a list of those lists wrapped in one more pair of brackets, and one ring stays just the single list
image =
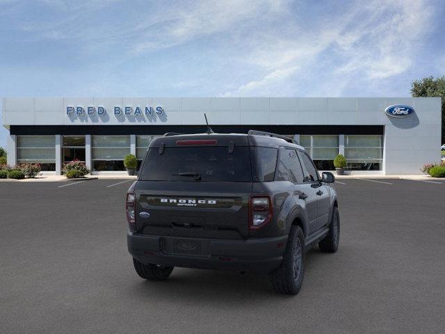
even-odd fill
[{"label": "showroom window just right of the dealership's dark entrance door", "polygon": [[93,170],[125,170],[130,154],[130,136],[92,136]]}]

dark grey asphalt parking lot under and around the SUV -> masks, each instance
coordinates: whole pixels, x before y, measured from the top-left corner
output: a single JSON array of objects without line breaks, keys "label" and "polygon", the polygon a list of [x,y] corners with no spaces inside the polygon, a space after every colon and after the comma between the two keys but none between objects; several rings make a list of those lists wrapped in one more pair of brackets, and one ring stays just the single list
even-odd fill
[{"label": "dark grey asphalt parking lot under and around the SUV", "polygon": [[131,181],[1,182],[0,332],[443,333],[445,182],[339,182],[339,251],[309,251],[297,296],[225,271],[138,278]]}]

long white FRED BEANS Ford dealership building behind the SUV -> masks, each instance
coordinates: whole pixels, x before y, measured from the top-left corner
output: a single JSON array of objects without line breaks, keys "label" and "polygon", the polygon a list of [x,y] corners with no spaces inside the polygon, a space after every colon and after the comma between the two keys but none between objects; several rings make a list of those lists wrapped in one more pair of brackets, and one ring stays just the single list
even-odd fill
[{"label": "long white FRED BEANS Ford dealership building behind the SUV", "polygon": [[419,174],[440,159],[439,97],[3,97],[8,164],[60,174],[85,161],[92,174],[125,173],[166,132],[249,129],[294,136],[319,170],[344,154],[350,173]]}]

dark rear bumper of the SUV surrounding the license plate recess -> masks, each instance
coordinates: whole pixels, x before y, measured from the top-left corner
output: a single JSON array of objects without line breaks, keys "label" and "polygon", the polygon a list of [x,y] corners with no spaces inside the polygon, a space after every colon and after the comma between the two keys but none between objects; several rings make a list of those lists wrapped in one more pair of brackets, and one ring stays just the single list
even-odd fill
[{"label": "dark rear bumper of the SUV surrounding the license plate recess", "polygon": [[283,259],[287,235],[280,237],[252,238],[247,240],[181,238],[202,243],[202,255],[188,255],[165,251],[175,237],[134,234],[128,232],[128,250],[133,257],[145,264],[172,267],[225,269],[270,273]]}]

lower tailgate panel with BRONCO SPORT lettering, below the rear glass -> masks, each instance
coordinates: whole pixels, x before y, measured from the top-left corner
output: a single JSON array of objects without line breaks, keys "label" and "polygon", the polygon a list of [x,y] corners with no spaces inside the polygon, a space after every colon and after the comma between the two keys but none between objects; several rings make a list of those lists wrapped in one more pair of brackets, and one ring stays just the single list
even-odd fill
[{"label": "lower tailgate panel with BRONCO SPORT lettering, below the rear glass", "polygon": [[143,234],[247,239],[252,182],[138,181],[136,229]]}]

